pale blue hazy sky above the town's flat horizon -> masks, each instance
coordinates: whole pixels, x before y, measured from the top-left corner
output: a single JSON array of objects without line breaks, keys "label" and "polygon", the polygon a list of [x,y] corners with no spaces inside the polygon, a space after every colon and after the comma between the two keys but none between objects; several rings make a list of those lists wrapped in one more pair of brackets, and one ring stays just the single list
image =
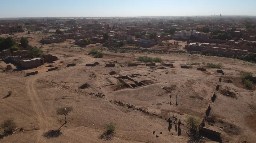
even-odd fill
[{"label": "pale blue hazy sky above the town's flat horizon", "polygon": [[256,15],[256,0],[2,0],[0,18]]}]

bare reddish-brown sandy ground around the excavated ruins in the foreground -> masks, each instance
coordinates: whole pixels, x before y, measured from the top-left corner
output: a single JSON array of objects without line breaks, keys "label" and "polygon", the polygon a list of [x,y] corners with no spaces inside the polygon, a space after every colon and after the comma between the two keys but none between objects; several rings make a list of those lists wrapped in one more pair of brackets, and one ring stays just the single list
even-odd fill
[{"label": "bare reddish-brown sandy ground around the excavated ruins in the foreground", "polygon": [[[26,35],[30,37],[29,44],[40,46],[38,42],[46,35]],[[52,45],[52,46],[50,46]],[[211,103],[209,121],[206,128],[221,132],[222,142],[255,142],[256,138],[256,93],[241,85],[241,74],[255,73],[255,64],[222,57],[191,56],[188,54],[148,54],[151,57],[161,57],[165,63],[172,63],[173,68],[150,68],[145,65],[128,67],[128,63],[136,62],[138,56],[146,53],[110,53],[106,50],[104,58],[93,58],[87,55],[92,48],[74,46],[74,40],[63,43],[42,45],[43,50],[49,48],[49,53],[58,56],[59,60],[51,64],[58,66],[58,70],[47,72],[46,63],[40,67],[24,70],[25,72],[39,71],[38,74],[24,77],[19,73],[0,72],[0,122],[14,118],[16,132],[0,139],[2,143],[41,143],[41,142],[104,142],[98,137],[103,131],[104,123],[117,124],[116,136],[113,143],[166,143],[187,142],[186,118],[194,116],[198,120],[205,117],[205,110]],[[101,49],[101,47],[99,47]],[[105,67],[106,63],[116,61],[115,67]],[[100,65],[87,67],[86,63],[99,62]],[[192,69],[182,69],[180,64],[186,62],[210,62],[222,65],[224,75],[216,69],[198,71],[198,66]],[[66,67],[69,63],[76,66]],[[1,61],[1,66],[8,64]],[[122,66],[121,66],[122,65]],[[12,65],[15,68],[15,65]],[[115,75],[108,74],[115,70]],[[90,76],[95,74],[96,77]],[[135,74],[135,75],[134,75]],[[115,77],[129,76],[136,81],[144,81],[145,85],[135,88],[114,90],[118,85]],[[212,103],[210,97],[218,83],[219,77],[230,79],[232,83],[220,83],[219,91],[215,91],[216,99]],[[127,83],[133,83],[124,79]],[[88,83],[90,87],[79,87]],[[147,84],[150,83],[150,84]],[[162,87],[169,87],[169,93]],[[222,90],[235,93],[236,98],[225,96]],[[254,88],[255,89],[255,88]],[[6,97],[12,90],[11,96]],[[95,94],[102,93],[100,98]],[[172,104],[169,96],[172,95]],[[175,104],[175,95],[178,96],[178,105]],[[136,106],[146,112],[120,106],[114,101]],[[56,114],[59,107],[72,106],[74,109],[67,115],[67,124],[61,128],[62,135],[55,138],[43,136],[48,130],[56,130],[64,123],[64,116]],[[157,116],[153,115],[157,114]],[[162,116],[159,118],[158,116]],[[168,122],[165,118],[177,116],[184,125],[181,125],[181,135],[173,125],[168,131]],[[207,118],[208,119],[208,118]],[[19,131],[23,128],[23,131]],[[156,138],[153,130],[159,135]],[[0,130],[0,134],[3,130]],[[211,140],[204,138],[204,142]]]}]

